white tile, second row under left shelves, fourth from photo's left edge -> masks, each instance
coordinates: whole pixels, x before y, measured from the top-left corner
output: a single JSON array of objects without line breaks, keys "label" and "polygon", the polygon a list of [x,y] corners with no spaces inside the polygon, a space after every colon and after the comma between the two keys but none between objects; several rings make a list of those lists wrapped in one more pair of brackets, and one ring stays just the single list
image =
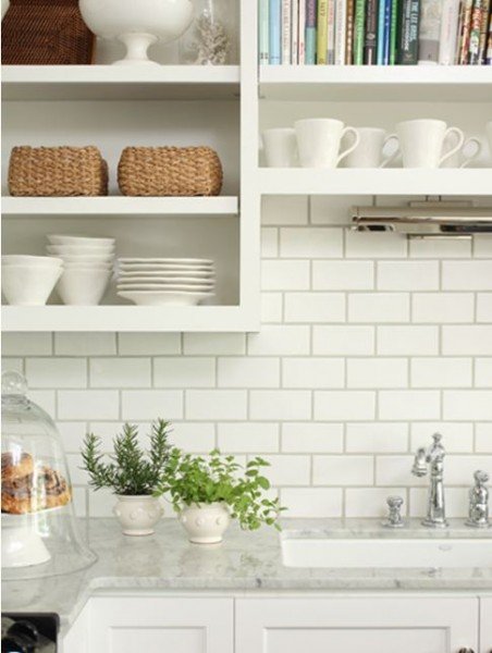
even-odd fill
[{"label": "white tile, second row under left shelves, fourth from photo's left edge", "polygon": [[171,356],[153,359],[156,387],[213,387],[216,359],[192,356]]}]

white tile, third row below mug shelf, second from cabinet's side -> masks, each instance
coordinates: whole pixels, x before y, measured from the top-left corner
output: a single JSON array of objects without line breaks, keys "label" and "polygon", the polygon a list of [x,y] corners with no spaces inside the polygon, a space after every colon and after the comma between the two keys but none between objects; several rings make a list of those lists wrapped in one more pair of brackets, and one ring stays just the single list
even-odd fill
[{"label": "white tile, third row below mug shelf, second from cabinet's side", "polygon": [[315,291],[371,291],[373,287],[372,261],[312,261]]}]

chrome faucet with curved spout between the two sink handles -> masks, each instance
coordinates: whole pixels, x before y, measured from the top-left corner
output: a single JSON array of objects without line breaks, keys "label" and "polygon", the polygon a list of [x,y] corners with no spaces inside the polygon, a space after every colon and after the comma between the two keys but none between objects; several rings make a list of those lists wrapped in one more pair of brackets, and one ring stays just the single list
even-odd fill
[{"label": "chrome faucet with curved spout between the two sink handles", "polygon": [[442,435],[434,433],[432,444],[429,448],[421,447],[415,455],[411,473],[416,477],[425,477],[430,472],[429,497],[427,502],[427,517],[423,526],[430,528],[446,528],[446,512],[444,505],[444,456],[446,451],[441,444]]}]

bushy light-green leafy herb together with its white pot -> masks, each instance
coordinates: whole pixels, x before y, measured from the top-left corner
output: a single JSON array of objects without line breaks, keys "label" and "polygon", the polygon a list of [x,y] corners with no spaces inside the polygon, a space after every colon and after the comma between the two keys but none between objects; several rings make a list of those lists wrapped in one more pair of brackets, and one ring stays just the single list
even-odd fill
[{"label": "bushy light-green leafy herb together with its white pot", "polygon": [[222,456],[218,449],[207,458],[173,448],[165,478],[156,494],[167,493],[188,540],[198,544],[222,541],[231,519],[244,530],[261,525],[280,530],[279,500],[267,495],[270,481],[262,475],[269,463],[256,457],[243,468],[234,456]]}]

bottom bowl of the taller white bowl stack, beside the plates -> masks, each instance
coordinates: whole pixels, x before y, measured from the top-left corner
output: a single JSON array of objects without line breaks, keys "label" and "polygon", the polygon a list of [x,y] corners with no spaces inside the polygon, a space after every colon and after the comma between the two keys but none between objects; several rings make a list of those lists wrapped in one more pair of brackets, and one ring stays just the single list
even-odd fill
[{"label": "bottom bowl of the taller white bowl stack, beside the plates", "polygon": [[108,270],[67,269],[58,282],[57,291],[63,304],[97,306],[111,276]]}]

